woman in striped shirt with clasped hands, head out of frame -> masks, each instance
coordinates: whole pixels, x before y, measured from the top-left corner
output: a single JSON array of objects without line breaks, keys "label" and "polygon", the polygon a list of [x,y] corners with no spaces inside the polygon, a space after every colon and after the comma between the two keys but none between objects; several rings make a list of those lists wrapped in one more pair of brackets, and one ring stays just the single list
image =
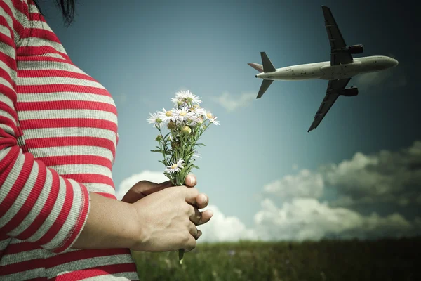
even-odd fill
[{"label": "woman in striped shirt with clasped hands, head out of frame", "polygon": [[[74,0],[60,0],[67,23]],[[129,249],[196,247],[208,197],[137,183],[116,200],[116,107],[33,0],[0,0],[0,280],[138,280]]]}]

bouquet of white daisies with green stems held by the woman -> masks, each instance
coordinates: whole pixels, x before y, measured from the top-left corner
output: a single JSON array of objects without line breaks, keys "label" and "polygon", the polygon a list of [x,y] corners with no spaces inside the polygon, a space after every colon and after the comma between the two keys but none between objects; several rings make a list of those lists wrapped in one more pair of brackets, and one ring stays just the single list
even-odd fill
[{"label": "bouquet of white daisies with green stems held by the woman", "polygon": [[[204,110],[201,100],[190,91],[179,91],[171,100],[174,107],[171,110],[150,113],[147,121],[154,124],[159,135],[156,136],[158,145],[156,150],[163,159],[159,162],[166,166],[163,174],[170,179],[173,185],[184,185],[187,174],[193,169],[199,169],[194,164],[196,158],[201,157],[197,148],[203,143],[197,143],[202,133],[210,124],[219,125],[217,117]],[[162,129],[166,127],[168,133],[164,136]],[[180,250],[179,258],[182,263],[183,251]]]}]

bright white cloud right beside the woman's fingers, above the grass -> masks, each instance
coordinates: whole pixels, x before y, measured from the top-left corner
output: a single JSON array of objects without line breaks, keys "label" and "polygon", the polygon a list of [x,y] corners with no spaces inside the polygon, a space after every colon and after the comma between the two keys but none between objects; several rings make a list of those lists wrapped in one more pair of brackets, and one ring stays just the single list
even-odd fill
[{"label": "bright white cloud right beside the woman's fingers, above the grass", "polygon": [[208,223],[198,226],[203,232],[198,242],[236,242],[257,239],[255,230],[246,228],[236,216],[225,216],[216,206],[208,206],[206,209],[213,211],[213,217]]}]

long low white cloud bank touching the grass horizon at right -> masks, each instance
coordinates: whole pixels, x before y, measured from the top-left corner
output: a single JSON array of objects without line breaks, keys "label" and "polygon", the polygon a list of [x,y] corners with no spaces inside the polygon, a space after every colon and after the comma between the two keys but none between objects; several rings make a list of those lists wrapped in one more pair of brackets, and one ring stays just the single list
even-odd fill
[{"label": "long low white cloud bank touching the grass horizon at right", "polygon": [[262,202],[262,210],[255,215],[255,223],[262,240],[399,237],[421,230],[417,221],[411,223],[400,214],[362,216],[349,209],[329,207],[327,202],[312,198],[295,198],[281,208],[266,199]]}]

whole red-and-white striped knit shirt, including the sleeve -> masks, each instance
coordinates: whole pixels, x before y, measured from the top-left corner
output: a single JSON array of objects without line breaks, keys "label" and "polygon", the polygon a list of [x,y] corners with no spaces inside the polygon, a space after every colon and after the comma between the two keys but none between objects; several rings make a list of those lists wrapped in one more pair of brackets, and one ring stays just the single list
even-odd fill
[{"label": "whole red-and-white striped knit shirt, including the sleeve", "polygon": [[138,280],[129,249],[70,249],[116,199],[117,112],[32,0],[0,0],[0,280]]}]

